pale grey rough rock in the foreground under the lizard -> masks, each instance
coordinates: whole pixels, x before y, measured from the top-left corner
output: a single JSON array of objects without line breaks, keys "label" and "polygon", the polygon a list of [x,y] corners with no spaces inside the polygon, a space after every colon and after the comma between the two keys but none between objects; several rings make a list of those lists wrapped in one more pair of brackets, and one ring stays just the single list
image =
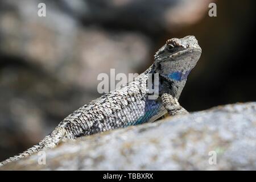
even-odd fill
[{"label": "pale grey rough rock in the foreground under the lizard", "polygon": [[255,170],[255,151],[256,102],[248,102],[82,137],[47,150],[46,165],[33,155],[1,169]]}]

